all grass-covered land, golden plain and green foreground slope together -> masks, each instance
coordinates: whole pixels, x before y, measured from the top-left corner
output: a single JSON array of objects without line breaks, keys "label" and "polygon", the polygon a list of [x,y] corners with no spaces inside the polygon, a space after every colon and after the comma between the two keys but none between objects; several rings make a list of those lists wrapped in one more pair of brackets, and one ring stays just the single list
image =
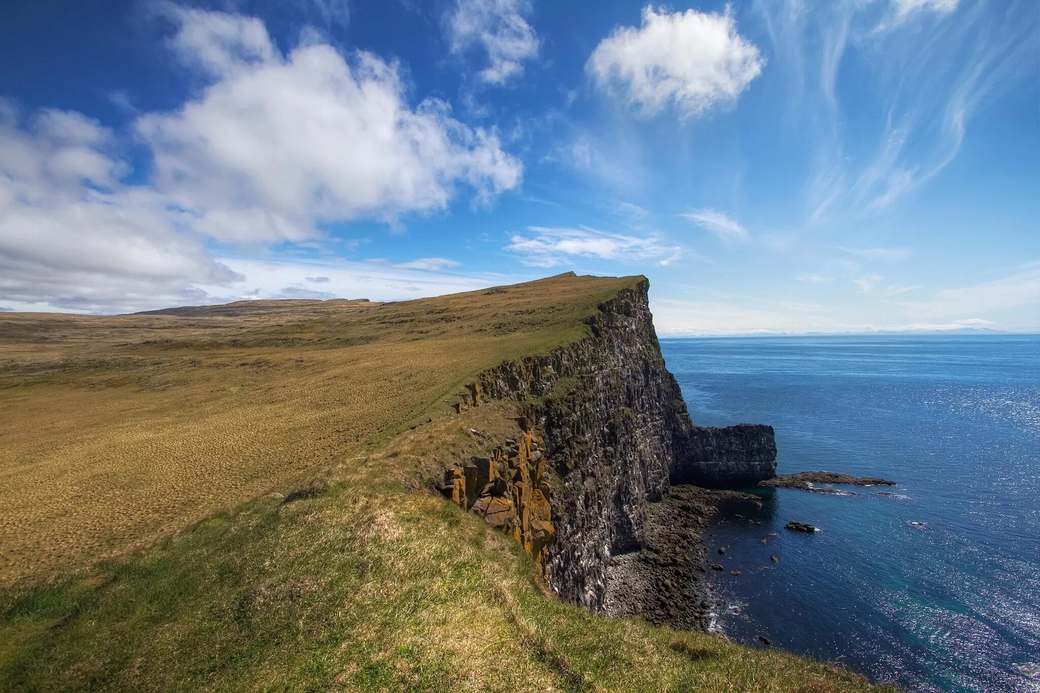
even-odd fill
[{"label": "all grass-covered land, golden plain and green foreground slope together", "polygon": [[423,487],[517,434],[462,383],[636,278],[0,315],[0,690],[868,690],[562,604]]}]

